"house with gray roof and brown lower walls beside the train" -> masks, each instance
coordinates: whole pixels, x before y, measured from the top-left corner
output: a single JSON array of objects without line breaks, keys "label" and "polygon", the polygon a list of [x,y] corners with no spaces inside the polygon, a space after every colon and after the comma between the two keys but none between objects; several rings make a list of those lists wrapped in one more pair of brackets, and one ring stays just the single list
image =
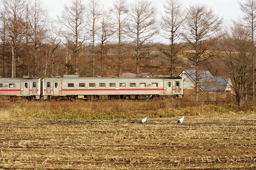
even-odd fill
[{"label": "house with gray roof and brown lower walls beside the train", "polygon": [[[183,94],[195,94],[195,70],[184,69],[180,75],[183,78]],[[214,77],[209,71],[199,70],[199,97],[204,101],[222,101],[231,95],[231,80],[229,77]]]}]

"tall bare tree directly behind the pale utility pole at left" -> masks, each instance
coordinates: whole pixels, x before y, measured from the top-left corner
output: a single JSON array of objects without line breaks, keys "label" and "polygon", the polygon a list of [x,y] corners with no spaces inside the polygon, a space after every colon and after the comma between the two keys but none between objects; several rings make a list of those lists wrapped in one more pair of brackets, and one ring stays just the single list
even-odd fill
[{"label": "tall bare tree directly behind the pale utility pole at left", "polygon": [[[16,77],[16,58],[17,50],[23,36],[24,11],[26,9],[25,0],[3,0],[4,10],[7,16],[7,36],[13,48],[13,75]],[[17,60],[18,61],[18,60]]]}]

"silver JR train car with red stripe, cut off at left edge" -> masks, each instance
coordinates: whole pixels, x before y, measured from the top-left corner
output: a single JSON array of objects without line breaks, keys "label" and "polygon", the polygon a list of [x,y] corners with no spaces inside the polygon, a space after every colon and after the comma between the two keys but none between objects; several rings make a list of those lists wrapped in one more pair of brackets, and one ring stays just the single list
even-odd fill
[{"label": "silver JR train car with red stripe, cut off at left edge", "polygon": [[28,99],[41,98],[40,78],[0,78],[0,96],[15,98],[23,97]]}]

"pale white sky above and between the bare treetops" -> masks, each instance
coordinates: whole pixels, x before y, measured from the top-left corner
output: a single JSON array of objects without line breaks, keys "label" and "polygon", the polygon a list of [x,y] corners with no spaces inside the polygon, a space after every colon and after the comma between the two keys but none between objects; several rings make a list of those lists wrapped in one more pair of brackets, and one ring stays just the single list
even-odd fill
[{"label": "pale white sky above and between the bare treetops", "polygon": [[[61,15],[63,6],[69,4],[71,0],[42,0],[44,5],[47,6],[49,15],[56,18],[57,15]],[[110,7],[113,4],[113,0],[101,0],[104,3],[104,7]],[[241,2],[245,0],[240,0]],[[88,3],[89,0],[84,0],[84,3]],[[132,3],[133,0],[127,0],[128,3]],[[163,3],[165,0],[151,0],[151,2],[158,7],[158,11],[161,12],[163,9]],[[237,20],[242,12],[239,9],[237,0],[181,0],[184,7],[189,7],[192,3],[206,4],[211,7],[215,14],[219,17],[224,17],[224,24],[229,24],[232,19]]]}]

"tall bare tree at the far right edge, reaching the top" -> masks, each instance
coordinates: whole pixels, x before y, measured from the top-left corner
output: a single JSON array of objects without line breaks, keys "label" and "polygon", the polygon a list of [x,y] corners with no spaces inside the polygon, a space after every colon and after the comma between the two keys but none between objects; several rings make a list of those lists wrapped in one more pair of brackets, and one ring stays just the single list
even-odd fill
[{"label": "tall bare tree at the far right edge, reaching the top", "polygon": [[251,55],[253,60],[253,75],[252,75],[252,93],[253,99],[255,100],[255,43],[254,43],[254,32],[256,29],[256,1],[255,0],[245,0],[244,2],[239,1],[239,6],[241,11],[244,13],[244,16],[241,19],[243,26],[250,28],[250,37],[251,37]]}]

